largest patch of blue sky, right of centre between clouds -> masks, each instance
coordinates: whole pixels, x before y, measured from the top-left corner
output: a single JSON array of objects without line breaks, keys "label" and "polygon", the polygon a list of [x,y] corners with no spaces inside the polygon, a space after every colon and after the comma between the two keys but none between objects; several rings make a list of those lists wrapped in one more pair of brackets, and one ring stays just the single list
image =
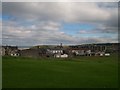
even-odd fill
[{"label": "largest patch of blue sky, right of centre between clouds", "polygon": [[76,35],[80,30],[93,30],[95,26],[90,24],[80,24],[80,23],[62,23],[61,31],[69,34]]}]

